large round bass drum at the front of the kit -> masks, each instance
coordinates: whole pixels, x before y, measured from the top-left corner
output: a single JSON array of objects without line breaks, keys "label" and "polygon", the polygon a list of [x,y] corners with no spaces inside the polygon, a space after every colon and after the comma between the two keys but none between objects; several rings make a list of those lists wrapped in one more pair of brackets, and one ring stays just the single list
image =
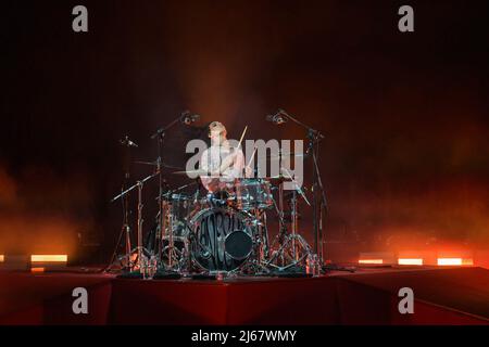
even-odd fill
[{"label": "large round bass drum at the front of the kit", "polygon": [[230,208],[206,208],[189,223],[190,256],[205,271],[239,269],[253,249],[255,227],[250,217]]}]

